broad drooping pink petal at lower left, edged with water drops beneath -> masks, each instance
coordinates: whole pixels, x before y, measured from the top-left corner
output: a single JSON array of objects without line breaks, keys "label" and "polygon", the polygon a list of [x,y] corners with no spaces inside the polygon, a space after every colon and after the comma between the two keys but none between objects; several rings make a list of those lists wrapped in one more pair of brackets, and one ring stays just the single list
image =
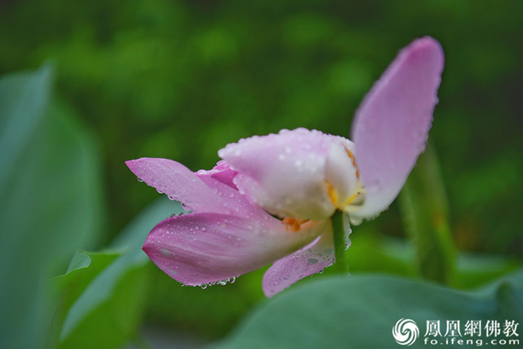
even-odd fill
[{"label": "broad drooping pink petal at lower left, edged with water drops beneath", "polygon": [[328,221],[298,232],[271,217],[264,224],[229,215],[171,217],[153,228],[143,250],[169,277],[197,286],[245,274],[307,245]]}]

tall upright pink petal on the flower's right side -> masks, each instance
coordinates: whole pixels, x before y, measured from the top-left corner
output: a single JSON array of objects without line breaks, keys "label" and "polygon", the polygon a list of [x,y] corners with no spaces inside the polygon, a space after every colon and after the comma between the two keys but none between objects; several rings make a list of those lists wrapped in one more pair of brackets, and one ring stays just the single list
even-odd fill
[{"label": "tall upright pink petal on the flower's right side", "polygon": [[377,215],[400,192],[425,149],[443,66],[436,40],[415,40],[363,100],[352,134],[366,199],[354,216]]}]

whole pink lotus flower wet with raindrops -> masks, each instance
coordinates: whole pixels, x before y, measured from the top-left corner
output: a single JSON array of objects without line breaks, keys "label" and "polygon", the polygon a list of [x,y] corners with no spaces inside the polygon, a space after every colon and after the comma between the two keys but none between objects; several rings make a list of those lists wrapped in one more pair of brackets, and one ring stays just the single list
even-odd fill
[{"label": "whole pink lotus flower wet with raindrops", "polygon": [[267,297],[321,272],[335,260],[334,212],[361,221],[400,192],[425,148],[443,65],[432,38],[404,48],[356,111],[354,142],[299,128],[229,144],[209,171],[158,158],[126,162],[191,211],[155,226],[144,251],[190,286],[273,263],[262,282]]}]

